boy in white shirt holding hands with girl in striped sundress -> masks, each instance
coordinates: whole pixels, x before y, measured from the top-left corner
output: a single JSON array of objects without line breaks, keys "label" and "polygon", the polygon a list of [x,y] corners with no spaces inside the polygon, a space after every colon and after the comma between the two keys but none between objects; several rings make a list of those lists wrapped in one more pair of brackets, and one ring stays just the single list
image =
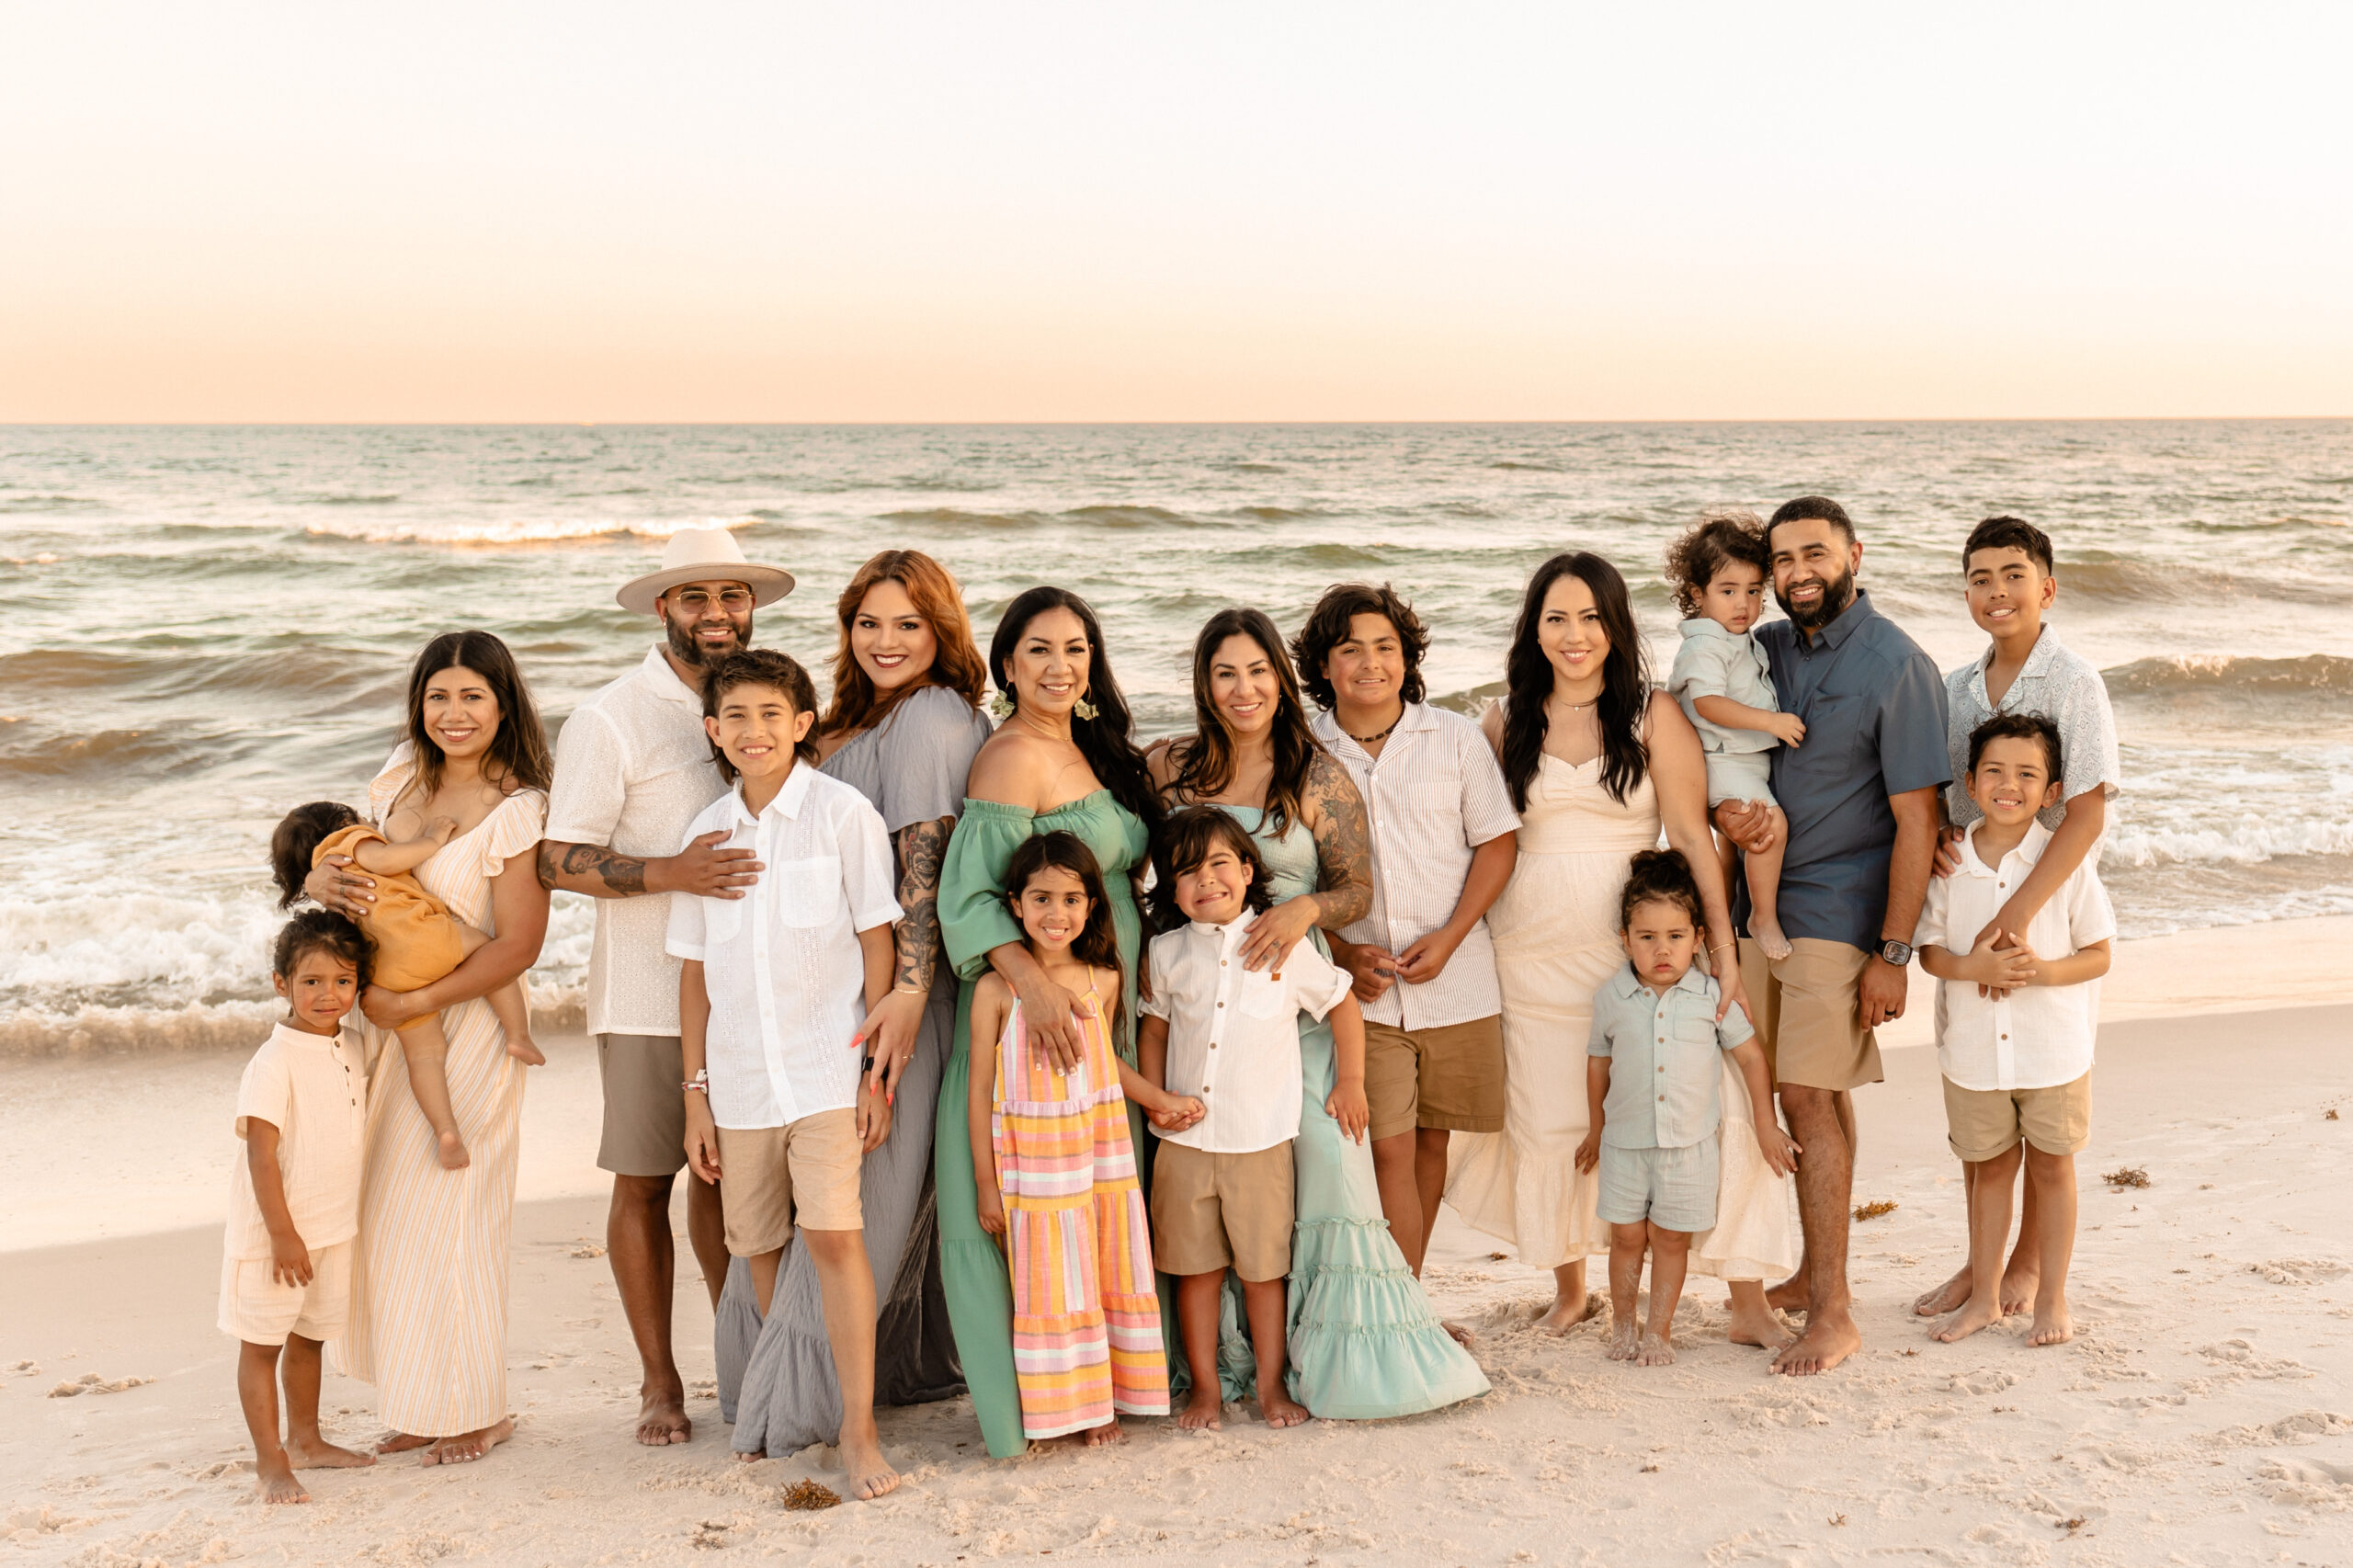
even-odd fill
[{"label": "boy in white shirt holding hands with girl in striped sundress", "polygon": [[1304,1095],[1299,1015],[1332,1019],[1337,1071],[1325,1109],[1358,1142],[1369,1118],[1365,1015],[1348,994],[1353,977],[1313,942],[1273,970],[1242,963],[1249,916],[1268,904],[1266,862],[1231,812],[1193,805],[1162,822],[1153,876],[1162,918],[1188,923],[1153,937],[1136,1067],[1205,1107],[1191,1125],[1162,1132],[1153,1158],[1153,1257],[1179,1278],[1176,1326],[1193,1368],[1193,1398],[1176,1424],[1214,1429],[1224,1415],[1217,1328],[1233,1269],[1259,1363],[1259,1415],[1268,1427],[1297,1427],[1308,1410],[1282,1384],[1282,1321]]}]

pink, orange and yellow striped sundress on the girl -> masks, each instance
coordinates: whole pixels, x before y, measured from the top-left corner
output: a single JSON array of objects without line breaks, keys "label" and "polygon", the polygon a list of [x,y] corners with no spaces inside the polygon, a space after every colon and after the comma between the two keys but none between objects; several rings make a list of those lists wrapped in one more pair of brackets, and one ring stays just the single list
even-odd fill
[{"label": "pink, orange and yellow striped sundress on the girl", "polygon": [[988,1116],[1005,1194],[1021,1431],[1052,1439],[1120,1415],[1167,1415],[1151,1220],[1106,1017],[1080,1017],[1071,1074],[1028,1048],[1021,1008],[998,1041]]}]

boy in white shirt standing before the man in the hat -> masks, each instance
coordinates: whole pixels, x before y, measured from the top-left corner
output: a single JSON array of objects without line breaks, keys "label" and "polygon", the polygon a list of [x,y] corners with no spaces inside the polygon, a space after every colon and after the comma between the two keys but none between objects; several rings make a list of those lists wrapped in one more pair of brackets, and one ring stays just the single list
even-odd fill
[{"label": "boy in white shirt standing before the man in the hat", "polygon": [[[842,1384],[842,1464],[859,1500],[899,1486],[875,1431],[875,1281],[859,1165],[889,1102],[854,1036],[889,994],[892,852],[859,791],[816,772],[816,687],[793,659],[739,652],[711,671],[704,730],[734,789],[687,824],[767,866],[748,897],[671,899],[687,1081],[687,1165],[727,1177],[727,1253],[751,1262],[767,1316],[800,1227]],[[744,1455],[755,1457],[755,1455]]]}]

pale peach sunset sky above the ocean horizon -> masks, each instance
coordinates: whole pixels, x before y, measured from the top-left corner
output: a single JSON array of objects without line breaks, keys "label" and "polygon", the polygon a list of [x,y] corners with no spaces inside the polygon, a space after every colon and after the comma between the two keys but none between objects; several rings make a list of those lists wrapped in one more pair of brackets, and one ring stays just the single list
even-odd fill
[{"label": "pale peach sunset sky above the ocean horizon", "polygon": [[0,5],[0,421],[2353,414],[2327,5]]}]

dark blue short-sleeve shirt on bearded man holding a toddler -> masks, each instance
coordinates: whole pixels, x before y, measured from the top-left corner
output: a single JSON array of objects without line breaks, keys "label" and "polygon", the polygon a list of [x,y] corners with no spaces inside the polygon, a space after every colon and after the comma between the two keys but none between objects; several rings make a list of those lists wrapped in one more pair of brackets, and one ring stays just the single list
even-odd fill
[{"label": "dark blue short-sleeve shirt on bearded man holding a toddler", "polygon": [[[1767,753],[1772,793],[1788,817],[1781,932],[1878,951],[1897,845],[1887,798],[1953,782],[1944,676],[1861,589],[1812,643],[1786,619],[1753,636],[1772,662],[1781,711],[1805,720],[1802,744]],[[1748,923],[1746,871],[1732,923]]]}]

